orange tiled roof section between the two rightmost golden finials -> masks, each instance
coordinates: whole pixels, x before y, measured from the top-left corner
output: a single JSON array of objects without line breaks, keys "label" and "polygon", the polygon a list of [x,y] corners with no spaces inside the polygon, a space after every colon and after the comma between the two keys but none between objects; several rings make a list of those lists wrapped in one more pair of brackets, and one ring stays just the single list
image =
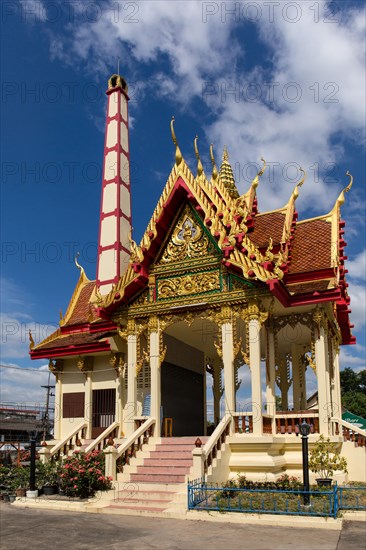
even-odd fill
[{"label": "orange tiled roof section between the two rightmost golden finials", "polygon": [[331,267],[332,226],[325,220],[309,220],[296,226],[289,274]]}]

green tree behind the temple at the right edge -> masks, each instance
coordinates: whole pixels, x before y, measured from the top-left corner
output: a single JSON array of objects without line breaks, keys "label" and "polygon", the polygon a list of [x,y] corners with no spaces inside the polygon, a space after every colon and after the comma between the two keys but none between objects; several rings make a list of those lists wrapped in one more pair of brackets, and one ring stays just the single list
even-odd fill
[{"label": "green tree behind the temple at the right edge", "polygon": [[366,418],[366,369],[357,373],[345,368],[341,372],[341,393],[343,407]]}]

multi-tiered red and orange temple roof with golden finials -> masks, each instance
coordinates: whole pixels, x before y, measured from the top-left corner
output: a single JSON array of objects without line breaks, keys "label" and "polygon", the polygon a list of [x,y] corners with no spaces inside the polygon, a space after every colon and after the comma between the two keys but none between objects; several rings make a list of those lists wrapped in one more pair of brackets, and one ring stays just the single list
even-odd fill
[{"label": "multi-tiered red and orange temple roof with golden finials", "polygon": [[171,131],[176,147],[175,164],[140,244],[130,240],[131,256],[126,270],[109,294],[101,296],[96,282],[90,281],[80,268],[79,281],[60,327],[33,347],[31,357],[109,350],[109,338],[116,331],[112,320],[116,310],[131,304],[148,287],[151,268],[167,234],[173,231],[177,212],[186,204],[216,241],[221,262],[228,271],[267,289],[286,308],[332,302],[342,343],[354,343],[344,267],[345,222],[340,213],[345,193],[352,186],[352,176],[348,174],[350,182],[328,214],[298,221],[296,199],[304,173],[283,208],[260,213],[256,189],[265,161],[248,191],[239,195],[226,148],[218,170],[211,146],[212,175],[208,178],[196,138],[194,176],[179,149],[174,119]]}]

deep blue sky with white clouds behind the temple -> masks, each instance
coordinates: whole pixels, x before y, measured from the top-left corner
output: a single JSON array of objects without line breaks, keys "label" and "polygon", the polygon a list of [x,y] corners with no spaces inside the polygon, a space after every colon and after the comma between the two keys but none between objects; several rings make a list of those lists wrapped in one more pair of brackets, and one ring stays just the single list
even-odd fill
[{"label": "deep blue sky with white clouds behind the temple", "polygon": [[[78,271],[95,278],[108,77],[130,86],[132,208],[139,240],[174,162],[169,122],[195,170],[224,144],[240,191],[263,155],[261,211],[285,204],[308,173],[300,219],[328,212],[346,170],[349,291],[358,343],[342,367],[364,367],[364,3],[7,1],[2,9],[2,400],[43,399],[45,362],[27,332],[47,336]],[[15,387],[17,390],[15,391]],[[15,392],[15,393],[14,393]]]}]

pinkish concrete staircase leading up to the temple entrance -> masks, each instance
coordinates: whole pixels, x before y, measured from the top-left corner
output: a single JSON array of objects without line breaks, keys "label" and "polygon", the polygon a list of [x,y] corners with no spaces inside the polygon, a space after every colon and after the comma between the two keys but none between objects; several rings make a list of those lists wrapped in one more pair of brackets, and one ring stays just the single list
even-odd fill
[{"label": "pinkish concrete staircase leading up to the temple entrance", "polygon": [[[99,512],[181,517],[187,510],[187,479],[197,436],[151,438],[118,474],[114,490],[102,493]],[[202,443],[207,437],[200,437]]]}]

